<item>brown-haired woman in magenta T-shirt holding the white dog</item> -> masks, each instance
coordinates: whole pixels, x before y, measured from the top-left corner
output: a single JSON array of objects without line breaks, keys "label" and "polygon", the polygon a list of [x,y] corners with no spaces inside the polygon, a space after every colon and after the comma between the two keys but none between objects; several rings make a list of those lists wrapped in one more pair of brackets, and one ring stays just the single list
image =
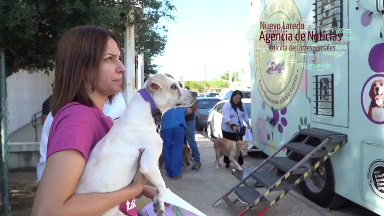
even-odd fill
[{"label": "brown-haired woman in magenta T-shirt holding the white dog", "polygon": [[61,38],[55,64],[54,119],[31,215],[95,216],[120,205],[124,214],[137,216],[135,197],[156,194],[139,169],[119,191],[74,194],[90,151],[113,124],[102,112],[104,103],[122,90],[126,68],[116,35],[96,26],[75,27]]}]

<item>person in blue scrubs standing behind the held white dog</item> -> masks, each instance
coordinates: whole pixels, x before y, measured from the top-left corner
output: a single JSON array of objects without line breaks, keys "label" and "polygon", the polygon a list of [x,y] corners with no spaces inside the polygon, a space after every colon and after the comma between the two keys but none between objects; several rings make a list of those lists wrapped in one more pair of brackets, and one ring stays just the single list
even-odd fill
[{"label": "person in blue scrubs standing behind the held white dog", "polygon": [[166,111],[162,116],[160,135],[163,139],[164,166],[167,175],[172,179],[182,177],[184,135],[187,128],[185,116],[191,113],[192,110],[189,107],[178,107]]}]

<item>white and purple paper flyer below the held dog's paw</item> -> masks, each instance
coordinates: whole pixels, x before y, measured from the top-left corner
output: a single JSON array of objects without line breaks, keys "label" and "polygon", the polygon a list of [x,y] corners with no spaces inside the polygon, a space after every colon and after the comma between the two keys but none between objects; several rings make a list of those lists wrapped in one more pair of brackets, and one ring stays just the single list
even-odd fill
[{"label": "white and purple paper flyer below the held dog's paw", "polygon": [[[166,190],[164,202],[169,203],[169,206],[165,208],[164,216],[207,216],[184,199],[172,193],[169,188]],[[144,216],[156,216],[156,213],[153,211],[153,202],[145,206],[140,213]]]}]

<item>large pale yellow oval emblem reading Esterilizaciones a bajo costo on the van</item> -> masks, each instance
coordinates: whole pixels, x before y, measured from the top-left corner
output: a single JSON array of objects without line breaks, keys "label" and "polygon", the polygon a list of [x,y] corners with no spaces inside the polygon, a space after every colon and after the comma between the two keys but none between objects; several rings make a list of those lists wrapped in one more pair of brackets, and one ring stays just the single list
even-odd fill
[{"label": "large pale yellow oval emblem reading Esterilizaciones a bajo costo on the van", "polygon": [[[260,17],[254,47],[256,81],[265,104],[273,110],[281,110],[292,101],[303,74],[305,51],[297,50],[296,47],[305,45],[305,41],[296,40],[295,34],[299,30],[300,33],[305,32],[290,27],[290,24],[295,23],[303,22],[293,0],[271,0]],[[265,40],[267,34],[276,33],[291,33],[293,37],[278,41],[278,37],[271,41]],[[295,50],[289,47],[295,47]]]}]

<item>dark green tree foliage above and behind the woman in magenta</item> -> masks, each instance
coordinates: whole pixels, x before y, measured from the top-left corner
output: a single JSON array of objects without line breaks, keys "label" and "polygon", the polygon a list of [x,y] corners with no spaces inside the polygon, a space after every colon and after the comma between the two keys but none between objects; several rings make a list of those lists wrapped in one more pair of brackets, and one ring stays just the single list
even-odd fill
[{"label": "dark green tree foliage above and behind the woman in magenta", "polygon": [[[128,8],[134,21],[128,20]],[[0,0],[0,47],[7,56],[7,76],[25,69],[48,73],[63,34],[79,25],[100,25],[113,30],[124,45],[125,23],[135,25],[135,46],[144,52],[146,76],[156,73],[151,58],[161,55],[167,29],[161,18],[174,20],[169,0]]]}]

